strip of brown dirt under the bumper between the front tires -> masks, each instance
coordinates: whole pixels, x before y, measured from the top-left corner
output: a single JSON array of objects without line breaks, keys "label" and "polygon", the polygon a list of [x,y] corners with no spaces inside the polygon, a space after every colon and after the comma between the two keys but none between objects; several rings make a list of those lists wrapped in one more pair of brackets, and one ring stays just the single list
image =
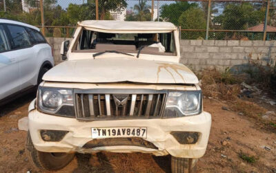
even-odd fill
[{"label": "strip of brown dirt under the bumper between the front tires", "polygon": [[[77,168],[72,172],[170,172],[170,156],[149,154],[76,154]],[[151,159],[152,158],[152,159]],[[148,165],[148,162],[153,164]],[[157,164],[154,164],[157,163]]]}]

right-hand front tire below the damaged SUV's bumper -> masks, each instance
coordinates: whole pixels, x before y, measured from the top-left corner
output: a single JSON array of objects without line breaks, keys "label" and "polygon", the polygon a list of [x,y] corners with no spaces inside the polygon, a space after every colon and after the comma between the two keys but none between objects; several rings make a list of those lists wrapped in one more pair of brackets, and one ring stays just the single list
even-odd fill
[{"label": "right-hand front tire below the damaged SUV's bumper", "polygon": [[172,173],[192,173],[197,170],[197,159],[179,158],[172,156],[171,167]]}]

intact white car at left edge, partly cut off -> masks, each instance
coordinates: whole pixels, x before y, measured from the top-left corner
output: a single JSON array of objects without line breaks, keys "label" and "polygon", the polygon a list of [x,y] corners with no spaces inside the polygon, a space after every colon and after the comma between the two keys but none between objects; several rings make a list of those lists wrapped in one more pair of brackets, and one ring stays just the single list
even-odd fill
[{"label": "intact white car at left edge, partly cut off", "polygon": [[41,82],[54,66],[51,49],[39,28],[0,19],[0,105]]}]

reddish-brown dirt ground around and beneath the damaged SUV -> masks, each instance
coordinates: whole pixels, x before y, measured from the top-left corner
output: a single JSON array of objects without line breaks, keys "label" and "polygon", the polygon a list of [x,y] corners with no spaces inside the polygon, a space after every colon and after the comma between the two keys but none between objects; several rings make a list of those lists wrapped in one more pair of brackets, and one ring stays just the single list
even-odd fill
[{"label": "reddish-brown dirt ground around and beneath the damaged SUV", "polygon": [[[34,95],[23,96],[0,107],[1,172],[39,172],[26,156],[26,131],[17,129],[17,121],[28,116],[32,98]],[[198,172],[276,172],[276,134],[260,128],[252,119],[221,107],[227,107],[227,103],[204,99],[204,110],[212,114],[213,122],[206,154],[198,162]],[[269,108],[276,111],[275,107]],[[255,163],[244,161],[241,153],[254,157]],[[77,154],[59,172],[170,172],[170,157],[136,153]]]}]

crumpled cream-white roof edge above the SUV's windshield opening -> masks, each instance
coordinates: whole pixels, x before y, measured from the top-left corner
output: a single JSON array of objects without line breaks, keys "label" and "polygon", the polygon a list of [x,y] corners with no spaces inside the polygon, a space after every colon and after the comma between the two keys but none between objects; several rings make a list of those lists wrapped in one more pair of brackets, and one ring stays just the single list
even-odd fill
[{"label": "crumpled cream-white roof edge above the SUV's windshield opening", "polygon": [[167,33],[172,30],[177,30],[174,24],[163,21],[88,20],[79,21],[78,25],[103,33],[105,31],[108,33],[110,33],[110,31],[115,31],[116,33],[145,33],[145,31]]}]

